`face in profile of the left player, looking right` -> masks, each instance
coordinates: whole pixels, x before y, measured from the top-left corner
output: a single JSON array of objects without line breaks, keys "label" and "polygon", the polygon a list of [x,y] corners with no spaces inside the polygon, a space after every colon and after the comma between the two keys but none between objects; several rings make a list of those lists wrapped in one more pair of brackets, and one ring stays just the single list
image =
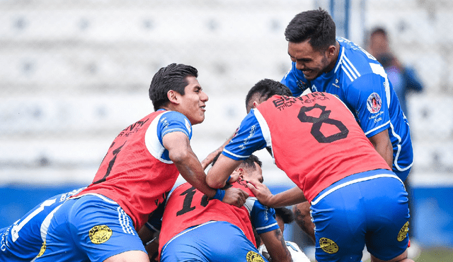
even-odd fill
[{"label": "face in profile of the left player, looking right", "polygon": [[205,107],[209,97],[202,91],[200,83],[195,76],[188,76],[188,85],[185,86],[185,94],[180,96],[181,102],[178,111],[183,113],[190,124],[200,124],[205,120]]}]

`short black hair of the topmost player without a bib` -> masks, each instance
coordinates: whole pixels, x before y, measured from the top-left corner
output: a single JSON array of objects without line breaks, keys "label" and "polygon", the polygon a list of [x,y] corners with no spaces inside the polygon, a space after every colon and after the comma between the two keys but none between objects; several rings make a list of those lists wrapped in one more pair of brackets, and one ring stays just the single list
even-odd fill
[{"label": "short black hair of the topmost player without a bib", "polygon": [[309,40],[311,47],[322,51],[336,42],[336,25],[322,8],[298,13],[287,25],[285,37],[289,42]]}]

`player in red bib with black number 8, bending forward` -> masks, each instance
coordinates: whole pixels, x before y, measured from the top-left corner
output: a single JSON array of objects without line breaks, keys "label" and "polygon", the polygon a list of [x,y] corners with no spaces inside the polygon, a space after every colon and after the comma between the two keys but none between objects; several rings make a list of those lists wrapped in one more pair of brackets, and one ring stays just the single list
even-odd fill
[{"label": "player in red bib with black number 8, bending forward", "polygon": [[222,188],[241,160],[267,148],[297,186],[275,196],[262,184],[248,187],[265,206],[311,203],[316,261],[360,261],[365,244],[373,262],[412,261],[403,181],[338,97],[291,95],[269,79],[249,90],[249,113],[207,173],[207,184]]}]

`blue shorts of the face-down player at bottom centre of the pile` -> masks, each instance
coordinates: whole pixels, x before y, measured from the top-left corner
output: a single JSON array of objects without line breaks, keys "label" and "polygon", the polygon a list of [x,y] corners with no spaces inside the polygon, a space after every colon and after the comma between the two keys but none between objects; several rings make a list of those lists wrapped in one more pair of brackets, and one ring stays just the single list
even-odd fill
[{"label": "blue shorts of the face-down player at bottom centre of the pile", "polygon": [[189,227],[162,248],[161,262],[243,261],[267,262],[239,227],[224,221],[211,221]]}]

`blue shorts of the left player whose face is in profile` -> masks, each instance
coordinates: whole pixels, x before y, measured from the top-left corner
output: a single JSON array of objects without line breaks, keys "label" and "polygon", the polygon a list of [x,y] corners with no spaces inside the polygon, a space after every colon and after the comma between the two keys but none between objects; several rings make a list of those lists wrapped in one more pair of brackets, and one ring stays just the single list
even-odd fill
[{"label": "blue shorts of the left player whose face is in profile", "polygon": [[132,220],[100,195],[69,199],[55,212],[39,261],[104,261],[125,251],[145,251]]}]

